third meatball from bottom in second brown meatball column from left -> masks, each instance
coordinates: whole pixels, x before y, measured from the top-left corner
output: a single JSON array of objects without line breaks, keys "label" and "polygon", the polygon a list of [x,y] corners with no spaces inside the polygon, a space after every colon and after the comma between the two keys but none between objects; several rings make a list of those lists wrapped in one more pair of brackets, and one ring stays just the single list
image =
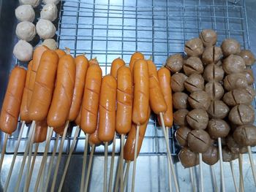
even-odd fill
[{"label": "third meatball from bottom in second brown meatball column from left", "polygon": [[189,95],[189,104],[193,109],[208,110],[211,99],[206,91],[195,91]]}]

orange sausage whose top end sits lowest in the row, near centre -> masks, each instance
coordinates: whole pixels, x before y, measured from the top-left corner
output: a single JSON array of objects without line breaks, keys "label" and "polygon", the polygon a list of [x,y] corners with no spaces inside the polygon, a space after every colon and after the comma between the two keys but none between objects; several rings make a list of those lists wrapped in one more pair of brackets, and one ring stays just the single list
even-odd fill
[{"label": "orange sausage whose top end sits lowest in the row, near centre", "polygon": [[116,128],[116,80],[111,75],[102,78],[99,99],[99,140],[110,142]]}]

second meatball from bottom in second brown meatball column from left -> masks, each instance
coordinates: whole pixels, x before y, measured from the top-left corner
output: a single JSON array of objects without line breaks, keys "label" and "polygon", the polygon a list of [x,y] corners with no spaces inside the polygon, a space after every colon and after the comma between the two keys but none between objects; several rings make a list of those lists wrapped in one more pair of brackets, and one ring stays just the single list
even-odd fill
[{"label": "second meatball from bottom in second brown meatball column from left", "polygon": [[208,125],[208,114],[206,110],[195,109],[187,114],[187,123],[194,129],[206,129]]}]

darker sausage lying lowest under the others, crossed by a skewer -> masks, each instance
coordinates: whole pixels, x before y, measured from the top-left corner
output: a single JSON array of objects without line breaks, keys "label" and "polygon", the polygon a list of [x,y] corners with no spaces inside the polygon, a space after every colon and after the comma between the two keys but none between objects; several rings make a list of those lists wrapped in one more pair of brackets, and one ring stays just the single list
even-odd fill
[{"label": "darker sausage lying lowest under the others, crossed by a skewer", "polygon": [[[139,131],[139,137],[138,137],[138,152],[137,156],[140,153],[140,148],[146,133],[146,128],[148,125],[148,120],[150,118],[150,107],[148,107],[147,111],[147,120],[145,123],[140,125],[140,131]],[[124,159],[126,161],[133,161],[134,160],[134,155],[135,155],[135,139],[136,139],[136,130],[137,130],[137,125],[135,123],[132,123],[132,128],[129,131],[127,141],[125,142],[124,145]]]}]

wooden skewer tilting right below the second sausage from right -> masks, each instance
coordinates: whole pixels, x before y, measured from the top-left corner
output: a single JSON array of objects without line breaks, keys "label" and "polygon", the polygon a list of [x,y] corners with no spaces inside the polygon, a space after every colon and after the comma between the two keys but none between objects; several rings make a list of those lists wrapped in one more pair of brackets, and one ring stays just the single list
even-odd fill
[{"label": "wooden skewer tilting right below the second sausage from right", "polygon": [[177,181],[177,178],[176,178],[176,172],[174,170],[173,160],[172,160],[172,157],[171,157],[171,154],[170,154],[169,139],[167,138],[166,131],[165,131],[165,121],[164,121],[162,112],[160,112],[159,115],[160,115],[160,120],[161,120],[161,124],[162,124],[162,130],[163,130],[163,133],[164,133],[164,136],[165,136],[165,145],[166,145],[166,149],[167,149],[167,156],[168,156],[169,161],[170,161],[170,170],[172,171],[172,174],[173,174],[173,180],[174,180],[174,185],[175,185],[175,188],[176,188],[176,192],[179,192],[178,181]]}]

